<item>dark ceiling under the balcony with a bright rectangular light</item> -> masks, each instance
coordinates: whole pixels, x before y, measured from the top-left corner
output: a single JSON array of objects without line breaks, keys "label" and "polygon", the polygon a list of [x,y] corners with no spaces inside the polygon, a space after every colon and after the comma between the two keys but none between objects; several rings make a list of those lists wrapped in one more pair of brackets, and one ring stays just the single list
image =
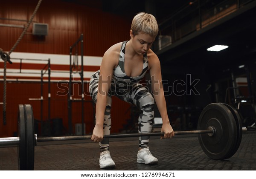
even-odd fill
[{"label": "dark ceiling under the balcony with a bright rectangular light", "polygon": [[[235,70],[256,61],[256,1],[157,52],[163,66],[204,67],[206,71]],[[220,52],[207,48],[227,45]],[[252,70],[255,70],[255,69]],[[196,69],[196,68],[195,68]],[[218,74],[219,75],[219,74]],[[220,74],[222,75],[222,74]]]}]

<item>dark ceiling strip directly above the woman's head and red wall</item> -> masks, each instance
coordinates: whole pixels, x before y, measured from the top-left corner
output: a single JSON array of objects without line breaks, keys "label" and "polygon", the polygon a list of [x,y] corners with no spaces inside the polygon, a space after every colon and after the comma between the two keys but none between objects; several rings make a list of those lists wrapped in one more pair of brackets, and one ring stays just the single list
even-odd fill
[{"label": "dark ceiling strip directly above the woman's head and red wall", "polygon": [[62,0],[132,19],[138,12],[148,12],[157,17],[159,23],[189,4],[189,0]]}]

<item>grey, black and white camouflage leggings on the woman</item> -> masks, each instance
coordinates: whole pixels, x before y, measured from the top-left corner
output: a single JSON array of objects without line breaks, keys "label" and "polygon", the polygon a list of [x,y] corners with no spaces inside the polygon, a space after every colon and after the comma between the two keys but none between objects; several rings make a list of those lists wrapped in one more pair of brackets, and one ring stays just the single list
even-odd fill
[{"label": "grey, black and white camouflage leggings on the woman", "polygon": [[[98,81],[99,78],[94,74],[90,79],[89,91],[94,103],[97,101],[98,92]],[[154,98],[151,93],[148,92],[146,87],[139,83],[133,83],[130,90],[119,90],[117,91],[113,85],[111,85],[110,94],[107,97],[107,104],[104,115],[103,131],[104,135],[109,135],[111,130],[111,95],[115,95],[118,98],[126,101],[130,104],[134,104],[140,107],[140,115],[138,119],[138,132],[139,133],[150,133],[153,125],[154,118]],[[120,92],[122,91],[122,92]],[[139,147],[148,147],[148,136],[139,137]],[[103,139],[99,142],[100,150],[109,149],[109,139]]]}]

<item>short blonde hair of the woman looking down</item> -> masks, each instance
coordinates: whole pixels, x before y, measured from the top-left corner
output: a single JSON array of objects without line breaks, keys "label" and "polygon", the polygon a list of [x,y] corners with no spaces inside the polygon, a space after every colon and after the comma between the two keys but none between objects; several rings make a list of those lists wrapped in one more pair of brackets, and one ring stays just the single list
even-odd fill
[{"label": "short blonde hair of the woman looking down", "polygon": [[131,23],[132,34],[138,35],[139,32],[156,37],[158,34],[158,24],[152,14],[140,12],[134,16]]}]

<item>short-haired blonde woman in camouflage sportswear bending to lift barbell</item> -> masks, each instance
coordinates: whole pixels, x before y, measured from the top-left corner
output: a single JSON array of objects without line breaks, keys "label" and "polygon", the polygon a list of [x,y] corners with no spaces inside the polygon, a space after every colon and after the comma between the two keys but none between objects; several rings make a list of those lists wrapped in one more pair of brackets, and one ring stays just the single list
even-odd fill
[{"label": "short-haired blonde woman in camouflage sportswear bending to lift barbell", "polygon": [[[101,168],[115,167],[109,152],[109,139],[103,139],[103,135],[110,134],[111,95],[140,107],[139,133],[151,132],[155,101],[163,119],[161,131],[164,136],[161,138],[174,136],[166,110],[160,61],[150,49],[157,33],[158,24],[153,15],[144,12],[137,14],[131,24],[131,39],[111,46],[102,58],[100,70],[90,79],[90,95],[96,103],[96,121],[91,140],[99,142]],[[148,89],[139,83],[148,70],[154,98]],[[148,136],[139,137],[137,162],[156,164],[158,160],[150,153],[148,141]]]}]

